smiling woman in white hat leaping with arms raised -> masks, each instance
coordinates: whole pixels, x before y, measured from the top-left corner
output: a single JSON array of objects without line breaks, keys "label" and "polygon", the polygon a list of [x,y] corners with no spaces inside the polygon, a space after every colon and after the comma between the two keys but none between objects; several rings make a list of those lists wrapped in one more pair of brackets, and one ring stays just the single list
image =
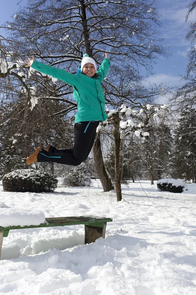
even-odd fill
[{"label": "smiling woman in white hat leaping with arms raised", "polygon": [[31,66],[43,74],[73,86],[73,97],[78,109],[74,123],[73,149],[57,149],[50,145],[46,149],[39,147],[27,158],[26,164],[55,162],[73,166],[80,165],[87,159],[93,147],[99,122],[107,118],[104,112],[105,98],[101,87],[110,67],[107,53],[98,71],[95,60],[85,55],[76,75],[38,62],[34,57],[28,58],[25,66]]}]

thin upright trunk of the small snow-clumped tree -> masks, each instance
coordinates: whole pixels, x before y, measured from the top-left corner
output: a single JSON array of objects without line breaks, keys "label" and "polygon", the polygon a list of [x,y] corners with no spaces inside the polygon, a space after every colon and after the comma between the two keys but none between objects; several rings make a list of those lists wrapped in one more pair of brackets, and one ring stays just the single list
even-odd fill
[{"label": "thin upright trunk of the small snow-clumped tree", "polygon": [[117,193],[117,202],[122,200],[121,189],[121,176],[120,176],[120,148],[121,148],[121,136],[119,131],[120,118],[119,114],[114,114],[114,145],[115,145],[115,186]]}]

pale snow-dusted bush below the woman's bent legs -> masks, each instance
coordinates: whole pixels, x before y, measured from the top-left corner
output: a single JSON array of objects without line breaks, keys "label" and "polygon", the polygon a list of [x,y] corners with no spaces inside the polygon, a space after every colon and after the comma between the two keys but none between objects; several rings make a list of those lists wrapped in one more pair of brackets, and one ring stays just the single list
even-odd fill
[{"label": "pale snow-dusted bush below the woman's bent legs", "polygon": [[86,170],[83,166],[77,166],[63,175],[63,184],[67,186],[89,186],[91,178],[86,175]]}]

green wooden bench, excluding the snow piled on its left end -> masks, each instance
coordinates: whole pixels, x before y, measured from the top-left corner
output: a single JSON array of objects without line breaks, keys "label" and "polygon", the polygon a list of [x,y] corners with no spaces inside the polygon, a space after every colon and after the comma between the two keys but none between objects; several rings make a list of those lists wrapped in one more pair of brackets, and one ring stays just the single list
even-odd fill
[{"label": "green wooden bench, excluding the snow piled on its left end", "polygon": [[84,243],[90,244],[96,241],[99,237],[105,238],[105,229],[107,222],[111,222],[111,218],[94,217],[94,216],[79,216],[79,217],[51,217],[46,218],[45,223],[29,226],[8,226],[0,227],[0,254],[3,243],[3,237],[8,236],[11,230],[32,229],[52,226],[66,226],[75,224],[84,224],[85,238]]}]

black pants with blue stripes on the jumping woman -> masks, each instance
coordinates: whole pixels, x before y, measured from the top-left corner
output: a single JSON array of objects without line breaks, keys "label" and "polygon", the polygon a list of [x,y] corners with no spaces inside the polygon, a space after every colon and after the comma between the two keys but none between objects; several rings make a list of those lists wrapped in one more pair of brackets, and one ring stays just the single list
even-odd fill
[{"label": "black pants with blue stripes on the jumping woman", "polygon": [[93,148],[98,124],[99,121],[75,123],[73,149],[57,149],[50,146],[49,151],[46,151],[42,148],[37,155],[37,161],[73,166],[80,165],[87,159]]}]

